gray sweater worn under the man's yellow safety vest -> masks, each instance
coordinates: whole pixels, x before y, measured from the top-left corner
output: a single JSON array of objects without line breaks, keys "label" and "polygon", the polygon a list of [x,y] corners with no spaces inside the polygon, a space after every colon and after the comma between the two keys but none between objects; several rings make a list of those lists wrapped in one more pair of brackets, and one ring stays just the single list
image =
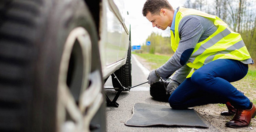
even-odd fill
[{"label": "gray sweater worn under the man's yellow safety vest", "polygon": [[[157,69],[158,74],[167,80],[175,71],[172,79],[182,83],[192,68],[185,65],[192,55],[197,43],[202,42],[215,33],[217,26],[210,19],[198,15],[188,15],[179,23],[179,36],[181,38],[174,55]],[[241,61],[253,64],[252,59]]]}]

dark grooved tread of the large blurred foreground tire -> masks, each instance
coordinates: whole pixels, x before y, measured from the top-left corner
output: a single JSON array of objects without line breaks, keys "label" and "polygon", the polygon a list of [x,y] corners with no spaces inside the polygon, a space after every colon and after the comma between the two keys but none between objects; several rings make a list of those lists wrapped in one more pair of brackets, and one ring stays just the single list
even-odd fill
[{"label": "dark grooved tread of the large blurred foreground tire", "polygon": [[[41,0],[0,1],[0,132],[24,132]],[[27,73],[27,72],[30,73]]]}]

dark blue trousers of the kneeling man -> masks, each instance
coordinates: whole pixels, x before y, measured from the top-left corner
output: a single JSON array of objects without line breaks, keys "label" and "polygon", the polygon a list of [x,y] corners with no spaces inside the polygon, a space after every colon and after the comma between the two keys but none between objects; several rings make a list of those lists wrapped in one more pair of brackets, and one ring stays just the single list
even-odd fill
[{"label": "dark blue trousers of the kneeling man", "polygon": [[236,109],[248,109],[250,100],[230,82],[238,81],[248,72],[248,64],[232,59],[217,59],[186,78],[169,98],[173,109],[230,102]]}]

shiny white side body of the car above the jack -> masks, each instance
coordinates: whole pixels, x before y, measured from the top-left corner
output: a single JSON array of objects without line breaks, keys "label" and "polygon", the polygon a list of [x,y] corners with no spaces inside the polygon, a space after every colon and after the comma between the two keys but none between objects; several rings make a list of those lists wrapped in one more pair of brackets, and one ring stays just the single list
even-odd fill
[{"label": "shiny white side body of the car above the jack", "polygon": [[102,0],[100,12],[99,49],[103,79],[109,77],[126,62],[130,25],[124,0]]}]

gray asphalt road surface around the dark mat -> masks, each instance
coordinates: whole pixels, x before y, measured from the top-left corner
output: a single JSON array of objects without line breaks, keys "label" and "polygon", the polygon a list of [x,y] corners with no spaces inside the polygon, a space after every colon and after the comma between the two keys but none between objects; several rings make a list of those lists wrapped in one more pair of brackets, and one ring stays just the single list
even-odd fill
[{"label": "gray asphalt road surface around the dark mat", "polygon": [[[132,85],[140,84],[147,81],[149,71],[138,62],[138,60],[132,56]],[[111,83],[111,77],[104,85],[105,88],[113,88]],[[107,132],[219,132],[209,122],[205,123],[209,128],[189,128],[189,127],[129,127],[124,123],[132,117],[132,109],[134,103],[149,103],[156,105],[169,106],[168,103],[155,101],[151,98],[149,92],[150,85],[143,84],[136,88],[131,89],[131,92],[122,92],[117,99],[119,107],[107,107],[106,108],[106,121]],[[106,94],[113,99],[117,93],[114,90],[106,90]]]}]

